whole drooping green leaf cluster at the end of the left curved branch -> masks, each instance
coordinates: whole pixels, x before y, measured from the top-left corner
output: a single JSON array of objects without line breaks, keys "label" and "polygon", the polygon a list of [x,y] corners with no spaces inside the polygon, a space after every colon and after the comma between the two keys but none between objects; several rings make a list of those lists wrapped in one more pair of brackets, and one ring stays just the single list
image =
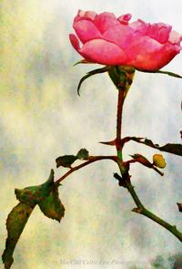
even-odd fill
[{"label": "whole drooping green leaf cluster at the end of the left curved branch", "polygon": [[6,221],[7,239],[2,256],[5,269],[9,269],[14,262],[15,245],[36,204],[46,217],[58,222],[65,214],[65,207],[59,199],[58,189],[55,186],[53,170],[45,183],[21,190],[15,189],[15,196],[19,203],[9,213]]}]

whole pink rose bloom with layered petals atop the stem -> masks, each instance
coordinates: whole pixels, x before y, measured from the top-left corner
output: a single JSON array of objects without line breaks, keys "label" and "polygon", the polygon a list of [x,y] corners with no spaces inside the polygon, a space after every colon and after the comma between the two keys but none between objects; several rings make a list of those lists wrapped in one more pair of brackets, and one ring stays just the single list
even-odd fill
[{"label": "whole pink rose bloom with layered petals atop the stem", "polygon": [[182,36],[172,26],[140,19],[129,23],[130,19],[130,14],[116,18],[108,12],[79,10],[73,24],[76,35],[71,34],[70,41],[88,62],[148,71],[166,66],[182,49]]}]

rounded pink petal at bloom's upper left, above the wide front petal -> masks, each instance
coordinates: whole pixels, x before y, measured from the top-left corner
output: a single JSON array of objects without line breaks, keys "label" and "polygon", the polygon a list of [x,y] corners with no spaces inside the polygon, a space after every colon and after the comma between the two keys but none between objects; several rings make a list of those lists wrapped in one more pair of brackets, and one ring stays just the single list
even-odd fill
[{"label": "rounded pink petal at bloom's upper left, above the wide front petal", "polygon": [[87,41],[101,37],[100,32],[96,29],[96,26],[90,20],[79,20],[74,22],[74,29],[76,35],[85,44]]}]

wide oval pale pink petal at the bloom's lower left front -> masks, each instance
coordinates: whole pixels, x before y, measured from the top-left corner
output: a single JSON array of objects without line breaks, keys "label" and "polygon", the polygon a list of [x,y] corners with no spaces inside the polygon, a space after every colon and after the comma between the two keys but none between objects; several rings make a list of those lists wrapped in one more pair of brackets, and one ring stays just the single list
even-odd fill
[{"label": "wide oval pale pink petal at the bloom's lower left front", "polygon": [[79,50],[79,53],[87,60],[101,65],[124,65],[126,63],[125,52],[115,44],[102,39],[88,41]]}]

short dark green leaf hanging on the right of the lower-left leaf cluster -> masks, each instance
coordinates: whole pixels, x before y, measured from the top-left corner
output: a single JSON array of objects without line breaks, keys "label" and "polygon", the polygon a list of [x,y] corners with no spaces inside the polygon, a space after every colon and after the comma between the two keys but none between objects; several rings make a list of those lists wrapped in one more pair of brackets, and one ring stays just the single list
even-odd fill
[{"label": "short dark green leaf hanging on the right of the lower-left leaf cluster", "polygon": [[65,207],[59,199],[57,187],[54,187],[48,196],[42,198],[38,205],[46,217],[57,222],[60,222],[65,215]]}]

